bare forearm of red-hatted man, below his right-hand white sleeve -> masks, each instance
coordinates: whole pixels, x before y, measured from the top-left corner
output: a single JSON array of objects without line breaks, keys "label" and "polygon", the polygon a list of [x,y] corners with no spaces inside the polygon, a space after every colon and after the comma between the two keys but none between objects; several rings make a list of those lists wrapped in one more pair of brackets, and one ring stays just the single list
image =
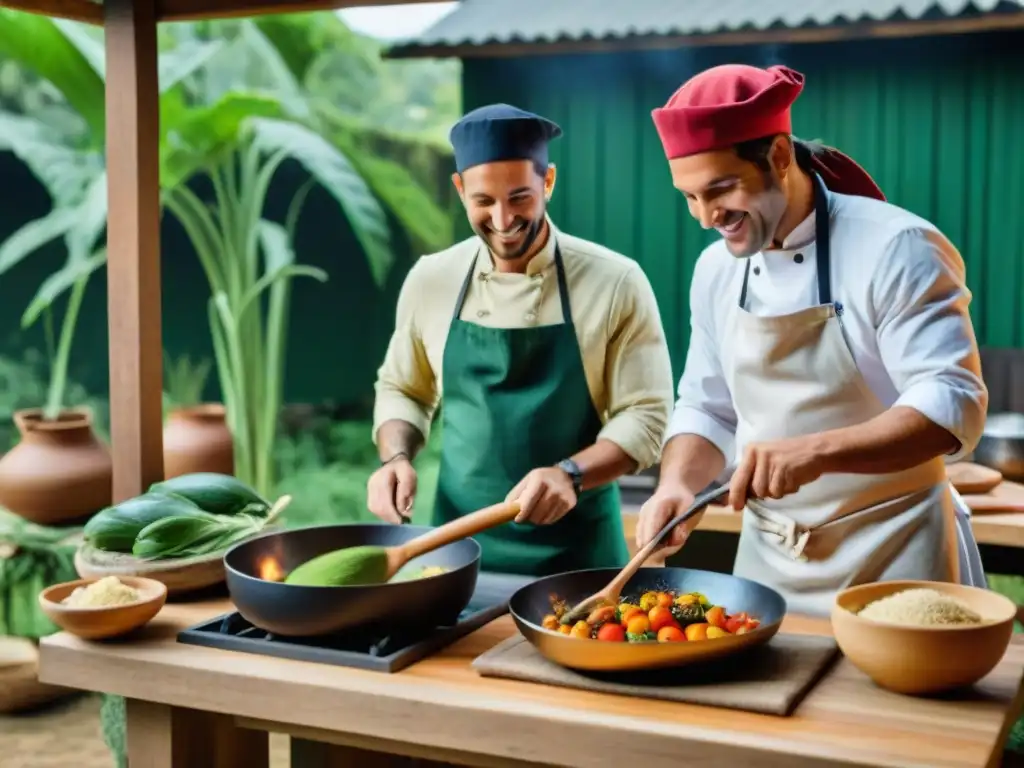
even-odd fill
[{"label": "bare forearm of red-hatted man, below his right-hand white sleeve", "polygon": [[945,456],[959,443],[921,412],[902,406],[852,427],[815,435],[825,472],[900,472]]}]

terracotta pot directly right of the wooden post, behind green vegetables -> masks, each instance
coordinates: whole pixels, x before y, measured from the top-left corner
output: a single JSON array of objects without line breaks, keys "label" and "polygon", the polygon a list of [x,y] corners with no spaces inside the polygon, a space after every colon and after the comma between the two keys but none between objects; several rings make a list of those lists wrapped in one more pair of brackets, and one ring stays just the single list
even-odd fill
[{"label": "terracotta pot directly right of the wooden post, behind green vegetables", "polygon": [[171,411],[164,426],[164,477],[190,472],[234,474],[227,412],[219,402]]}]

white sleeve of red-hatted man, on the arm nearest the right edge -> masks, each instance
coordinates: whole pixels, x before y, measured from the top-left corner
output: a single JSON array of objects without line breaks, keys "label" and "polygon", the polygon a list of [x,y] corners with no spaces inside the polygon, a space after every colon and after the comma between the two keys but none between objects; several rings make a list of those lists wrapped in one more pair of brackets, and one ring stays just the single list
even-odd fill
[{"label": "white sleeve of red-hatted man, on the arm nearest the right edge", "polygon": [[988,390],[971,323],[964,260],[941,234],[909,229],[893,241],[872,281],[879,351],[899,397],[974,451]]}]

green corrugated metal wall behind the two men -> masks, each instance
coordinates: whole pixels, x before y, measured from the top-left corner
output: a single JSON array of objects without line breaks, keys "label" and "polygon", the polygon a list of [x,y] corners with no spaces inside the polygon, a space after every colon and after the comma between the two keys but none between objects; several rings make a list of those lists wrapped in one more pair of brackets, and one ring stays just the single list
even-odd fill
[{"label": "green corrugated metal wall behind the two men", "polygon": [[672,187],[650,119],[726,61],[807,75],[795,133],[857,159],[889,199],[957,245],[983,344],[1024,346],[1024,34],[829,45],[471,59],[465,109],[510,101],[559,122],[559,225],[636,258],[657,293],[677,374],[701,231]]}]

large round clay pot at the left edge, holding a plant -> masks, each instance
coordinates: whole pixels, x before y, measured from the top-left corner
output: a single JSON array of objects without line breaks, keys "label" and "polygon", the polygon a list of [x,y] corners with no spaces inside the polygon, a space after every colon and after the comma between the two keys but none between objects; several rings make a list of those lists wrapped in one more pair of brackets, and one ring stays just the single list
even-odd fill
[{"label": "large round clay pot at the left edge, holding a plant", "polygon": [[0,506],[41,525],[79,522],[111,505],[114,464],[86,411],[14,413],[22,440],[0,459]]}]

